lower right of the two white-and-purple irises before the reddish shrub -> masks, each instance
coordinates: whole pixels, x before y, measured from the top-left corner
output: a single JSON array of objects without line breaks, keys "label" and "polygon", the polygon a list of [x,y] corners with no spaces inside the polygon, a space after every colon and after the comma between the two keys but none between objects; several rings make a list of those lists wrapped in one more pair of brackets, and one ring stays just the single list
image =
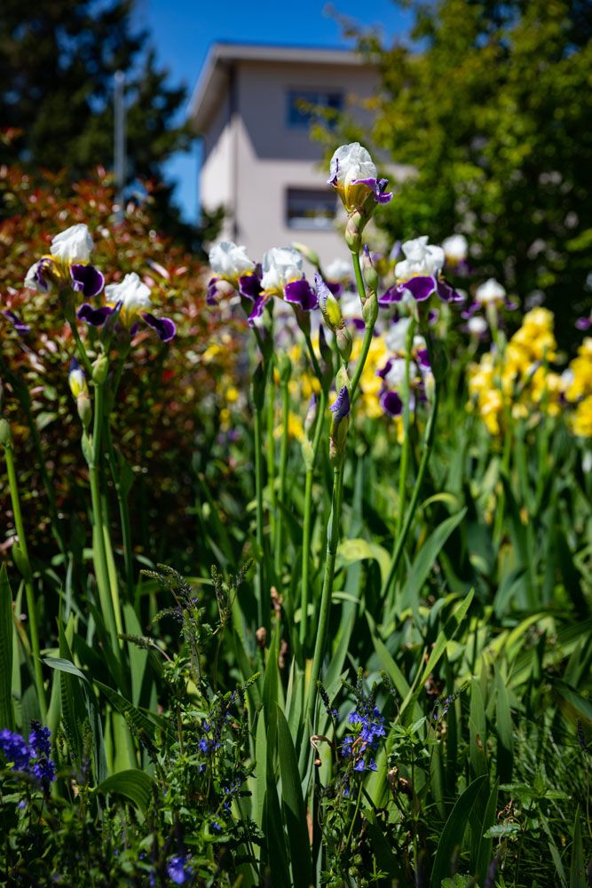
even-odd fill
[{"label": "lower right of the two white-and-purple irises before the reddish shrub", "polygon": [[140,281],[135,272],[126,274],[121,283],[108,284],[105,288],[105,300],[106,305],[101,305],[100,308],[84,303],[76,316],[93,327],[100,327],[108,317],[117,313],[117,323],[130,329],[132,336],[138,330],[138,319],[141,319],[156,331],[162,342],[170,342],[177,332],[175,322],[170,318],[157,318],[148,311],[152,305],[150,289]]}]

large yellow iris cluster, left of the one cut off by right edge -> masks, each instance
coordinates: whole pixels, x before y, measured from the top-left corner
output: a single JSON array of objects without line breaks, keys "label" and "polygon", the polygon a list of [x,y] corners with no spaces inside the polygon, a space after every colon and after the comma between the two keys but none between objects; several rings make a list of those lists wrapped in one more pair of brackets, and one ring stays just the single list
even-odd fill
[{"label": "large yellow iris cluster, left of the one cut off by right edge", "polygon": [[501,352],[486,352],[469,367],[470,410],[477,409],[492,435],[499,435],[506,416],[528,419],[560,410],[562,377],[549,369],[556,357],[553,313],[533,308]]}]

